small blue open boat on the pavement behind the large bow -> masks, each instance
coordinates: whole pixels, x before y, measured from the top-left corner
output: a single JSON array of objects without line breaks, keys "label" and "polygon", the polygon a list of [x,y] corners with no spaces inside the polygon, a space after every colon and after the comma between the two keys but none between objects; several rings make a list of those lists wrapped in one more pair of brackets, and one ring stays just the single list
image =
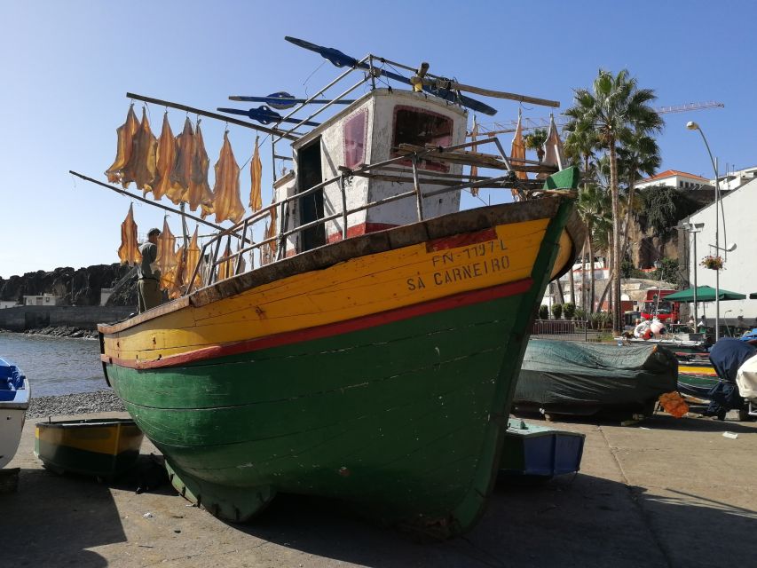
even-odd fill
[{"label": "small blue open boat on the pavement behind the large bow", "polygon": [[556,430],[510,418],[500,475],[551,479],[580,469],[585,434]]}]

